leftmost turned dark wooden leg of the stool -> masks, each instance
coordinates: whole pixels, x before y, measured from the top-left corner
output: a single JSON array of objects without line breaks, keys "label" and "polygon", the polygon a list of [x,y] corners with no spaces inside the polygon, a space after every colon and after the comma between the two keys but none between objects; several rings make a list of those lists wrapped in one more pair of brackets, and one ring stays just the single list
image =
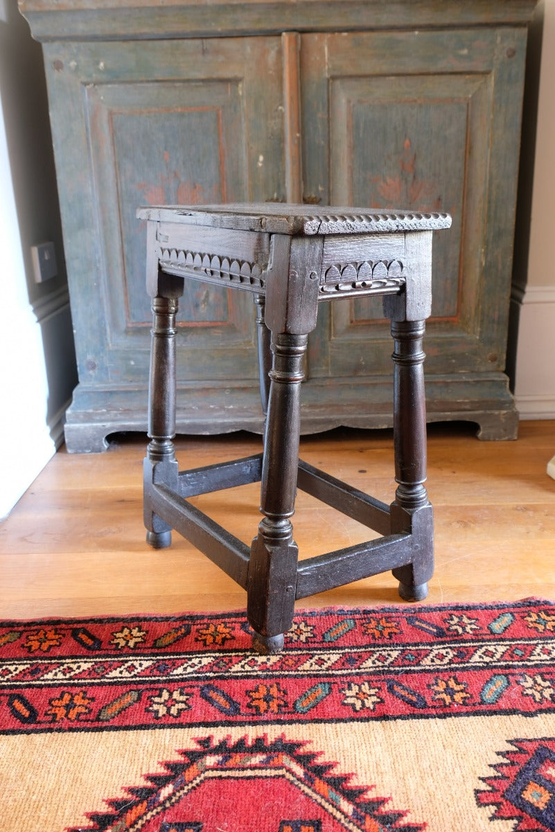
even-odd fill
[{"label": "leftmost turned dark wooden leg of the stool", "polygon": [[145,458],[146,540],[155,549],[171,543],[171,527],[150,509],[150,485],[166,483],[177,490],[178,464],[175,459],[175,314],[176,298],[152,300],[152,341],[149,381],[149,437]]}]

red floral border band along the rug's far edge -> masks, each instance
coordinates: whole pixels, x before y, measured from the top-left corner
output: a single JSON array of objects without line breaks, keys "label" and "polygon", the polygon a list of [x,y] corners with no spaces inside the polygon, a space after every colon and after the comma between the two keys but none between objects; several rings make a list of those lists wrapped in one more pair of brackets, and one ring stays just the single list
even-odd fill
[{"label": "red floral border band along the rug's far edge", "polygon": [[555,711],[555,607],[298,612],[258,656],[244,613],[0,624],[0,734]]}]

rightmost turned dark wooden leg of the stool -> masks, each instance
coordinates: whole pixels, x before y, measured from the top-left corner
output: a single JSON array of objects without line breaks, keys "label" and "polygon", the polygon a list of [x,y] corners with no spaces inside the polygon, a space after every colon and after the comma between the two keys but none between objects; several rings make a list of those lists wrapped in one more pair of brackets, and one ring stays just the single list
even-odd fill
[{"label": "rightmost turned dark wooden leg of the stool", "polygon": [[434,569],[432,507],[425,489],[426,405],[422,339],[425,321],[391,321],[395,339],[394,444],[395,480],[391,532],[411,532],[413,562],[393,570],[405,601],[421,601],[428,594]]}]

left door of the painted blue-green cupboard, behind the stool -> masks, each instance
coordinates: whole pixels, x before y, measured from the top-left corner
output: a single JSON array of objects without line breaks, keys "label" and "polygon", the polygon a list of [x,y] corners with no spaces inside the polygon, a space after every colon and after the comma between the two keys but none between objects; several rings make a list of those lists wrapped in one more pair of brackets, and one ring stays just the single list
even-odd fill
[{"label": "left door of the painted blue-green cupboard, behind the stool", "polygon": [[[151,314],[135,211],[284,198],[280,39],[58,42],[45,53],[80,386],[144,389]],[[250,295],[189,283],[178,383],[256,384],[253,316]]]}]

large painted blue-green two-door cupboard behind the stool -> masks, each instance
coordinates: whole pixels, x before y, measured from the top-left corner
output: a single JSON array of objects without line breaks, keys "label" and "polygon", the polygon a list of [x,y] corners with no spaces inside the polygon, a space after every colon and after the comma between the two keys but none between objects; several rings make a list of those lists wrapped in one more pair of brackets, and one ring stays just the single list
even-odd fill
[{"label": "large painted blue-green two-door cupboard behind the stool", "polygon": [[[70,451],[145,431],[138,206],[445,210],[425,339],[429,421],[514,438],[504,374],[527,25],[535,0],[20,0],[42,42],[79,384]],[[179,433],[260,431],[249,296],[189,287]],[[333,307],[333,308],[331,308]],[[379,301],[323,305],[304,433],[391,425]]]}]

